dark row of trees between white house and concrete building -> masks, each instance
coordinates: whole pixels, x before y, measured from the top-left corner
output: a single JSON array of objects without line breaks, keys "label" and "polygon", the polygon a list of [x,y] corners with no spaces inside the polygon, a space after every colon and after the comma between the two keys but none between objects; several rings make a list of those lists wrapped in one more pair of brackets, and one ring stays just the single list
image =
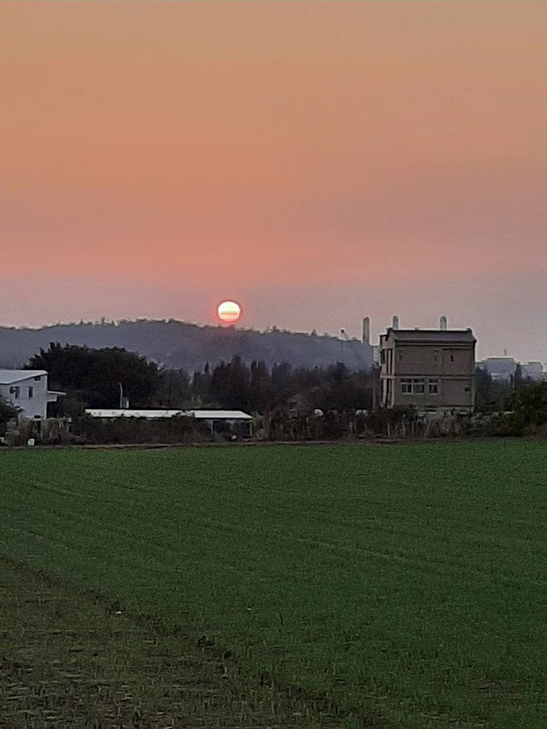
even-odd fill
[{"label": "dark row of trees between white house and concrete building", "polygon": [[166,370],[120,348],[92,349],[52,343],[27,367],[47,370],[50,386],[66,391],[55,414],[85,408],[116,408],[120,386],[135,408],[226,408],[269,413],[280,407],[297,413],[371,408],[376,370],[354,372],[342,362],[330,367],[293,367],[265,362],[206,364],[201,370]]}]

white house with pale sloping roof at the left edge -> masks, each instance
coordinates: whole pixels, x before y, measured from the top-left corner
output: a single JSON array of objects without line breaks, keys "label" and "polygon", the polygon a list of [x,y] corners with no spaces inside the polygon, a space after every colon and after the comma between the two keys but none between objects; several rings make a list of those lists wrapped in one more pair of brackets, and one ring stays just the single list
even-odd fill
[{"label": "white house with pale sloping roof at the left edge", "polygon": [[63,394],[47,389],[45,370],[0,370],[0,397],[28,420],[47,418],[47,403]]}]

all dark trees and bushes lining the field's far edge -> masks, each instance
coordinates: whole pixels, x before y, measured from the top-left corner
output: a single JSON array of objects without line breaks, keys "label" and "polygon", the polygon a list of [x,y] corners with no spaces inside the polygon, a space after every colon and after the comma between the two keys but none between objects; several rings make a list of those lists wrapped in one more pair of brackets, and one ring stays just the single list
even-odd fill
[{"label": "all dark trees and bushes lining the field's far edge", "polygon": [[[115,422],[106,428],[108,432],[100,428],[95,434],[87,432],[88,419],[79,417],[83,410],[117,408],[122,390],[133,408],[246,410],[262,416],[255,419],[255,434],[269,440],[547,435],[547,383],[524,380],[518,371],[511,381],[500,383],[477,369],[476,413],[438,413],[430,420],[419,416],[411,405],[378,408],[379,370],[352,371],[343,362],[329,367],[294,367],[288,363],[268,367],[260,360],[246,364],[234,356],[229,362],[206,363],[190,373],[162,368],[122,348],[97,350],[52,343],[31,357],[26,366],[47,370],[50,385],[66,391],[66,397],[52,403],[50,412],[51,416],[74,418],[71,424],[76,430],[72,435],[66,433],[66,442],[71,437],[82,437],[82,442],[90,438],[89,442],[106,438],[104,442],[112,443],[125,442],[124,438],[139,443],[143,438],[150,440],[150,424],[131,437],[133,426],[118,428]],[[0,402],[0,434],[14,414]],[[211,437],[210,433],[205,435]],[[205,435],[196,424],[175,423],[171,430],[158,430],[154,437],[178,442],[179,438],[192,440]],[[43,432],[40,437],[44,437]],[[47,442],[53,441],[50,438]]]}]

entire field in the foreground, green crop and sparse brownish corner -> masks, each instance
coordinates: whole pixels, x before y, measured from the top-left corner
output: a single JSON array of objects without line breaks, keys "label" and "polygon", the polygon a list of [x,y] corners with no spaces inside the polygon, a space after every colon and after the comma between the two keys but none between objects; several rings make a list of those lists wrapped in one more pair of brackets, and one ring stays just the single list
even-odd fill
[{"label": "entire field in the foreground, green crop and sparse brownish corner", "polygon": [[0,727],[547,726],[547,443],[0,451]]}]

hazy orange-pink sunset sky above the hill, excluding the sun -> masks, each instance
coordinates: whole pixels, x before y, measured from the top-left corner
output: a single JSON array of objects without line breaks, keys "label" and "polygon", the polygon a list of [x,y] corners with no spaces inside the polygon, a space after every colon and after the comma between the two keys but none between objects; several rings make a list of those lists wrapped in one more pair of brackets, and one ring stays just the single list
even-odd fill
[{"label": "hazy orange-pink sunset sky above the hill, excluding the sun", "polygon": [[547,3],[3,2],[0,324],[373,336],[547,360]]}]

